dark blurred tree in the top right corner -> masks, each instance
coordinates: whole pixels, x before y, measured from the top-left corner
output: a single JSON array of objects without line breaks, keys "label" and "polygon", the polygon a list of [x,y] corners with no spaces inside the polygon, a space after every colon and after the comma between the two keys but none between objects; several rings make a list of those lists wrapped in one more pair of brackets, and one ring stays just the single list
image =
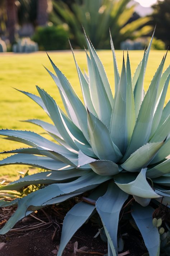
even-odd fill
[{"label": "dark blurred tree in the top right corner", "polygon": [[155,36],[170,46],[170,0],[158,1],[153,5],[152,24],[156,24]]}]

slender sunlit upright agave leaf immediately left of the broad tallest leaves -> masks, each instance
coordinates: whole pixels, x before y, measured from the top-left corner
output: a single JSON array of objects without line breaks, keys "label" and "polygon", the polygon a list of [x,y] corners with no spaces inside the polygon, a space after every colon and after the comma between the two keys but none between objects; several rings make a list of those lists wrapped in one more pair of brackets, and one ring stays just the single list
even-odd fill
[{"label": "slender sunlit upright agave leaf immediately left of the broad tallest leaves", "polygon": [[[70,43],[70,41],[69,41],[69,43]],[[91,101],[88,82],[86,81],[83,73],[81,72],[81,69],[79,68],[79,66],[76,62],[74,51],[72,49],[71,44],[70,44],[70,48],[71,48],[71,51],[72,51],[72,54],[73,54],[73,57],[74,57],[74,61],[75,61],[75,64],[76,64],[76,69],[77,69],[77,73],[78,73],[78,76],[79,76],[79,81],[80,81],[80,85],[81,85],[81,90],[82,90],[82,95],[83,95],[85,106],[90,110],[91,113],[96,115],[96,111],[95,111],[93,103]]]}]

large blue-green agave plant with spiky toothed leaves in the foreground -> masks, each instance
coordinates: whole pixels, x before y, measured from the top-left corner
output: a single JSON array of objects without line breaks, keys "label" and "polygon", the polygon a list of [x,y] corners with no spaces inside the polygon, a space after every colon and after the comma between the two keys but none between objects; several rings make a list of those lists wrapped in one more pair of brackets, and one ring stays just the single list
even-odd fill
[{"label": "large blue-green agave plant with spiky toothed leaves in the foreground", "polygon": [[31,146],[5,152],[15,154],[1,160],[1,166],[25,164],[48,170],[0,187],[0,190],[19,190],[30,184],[45,185],[23,198],[0,202],[1,207],[18,205],[0,234],[8,232],[17,221],[39,208],[89,191],[86,202],[72,207],[63,221],[57,256],[62,255],[72,235],[96,211],[108,239],[108,255],[118,255],[119,214],[127,199],[132,197],[132,217],[149,255],[159,255],[160,234],[152,224],[155,209],[150,201],[170,205],[170,159],[167,158],[170,154],[170,101],[164,107],[170,66],[162,75],[165,54],[145,92],[143,80],[152,39],[132,78],[128,54],[126,66],[123,57],[119,76],[110,36],[114,97],[104,67],[87,37],[89,76],[81,72],[75,60],[84,104],[50,58],[57,76],[47,71],[56,82],[67,114],[40,87],[37,86],[40,97],[22,91],[44,109],[54,125],[41,120],[28,122],[43,127],[57,143],[31,131],[0,130],[7,139]]}]

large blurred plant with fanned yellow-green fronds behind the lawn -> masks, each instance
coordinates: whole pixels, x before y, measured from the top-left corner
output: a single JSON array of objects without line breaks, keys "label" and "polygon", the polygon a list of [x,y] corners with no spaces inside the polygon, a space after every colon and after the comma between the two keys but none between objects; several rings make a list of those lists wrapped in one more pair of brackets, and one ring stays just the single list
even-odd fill
[{"label": "large blurred plant with fanned yellow-green fronds behind the lawn", "polygon": [[152,30],[151,26],[145,26],[150,20],[149,17],[142,17],[128,23],[135,6],[127,7],[129,1],[75,0],[75,3],[70,6],[63,1],[55,0],[50,18],[54,24],[68,24],[74,46],[83,48],[85,45],[82,24],[95,48],[110,48],[109,28],[114,38],[115,48],[119,48],[121,41],[133,40]]}]

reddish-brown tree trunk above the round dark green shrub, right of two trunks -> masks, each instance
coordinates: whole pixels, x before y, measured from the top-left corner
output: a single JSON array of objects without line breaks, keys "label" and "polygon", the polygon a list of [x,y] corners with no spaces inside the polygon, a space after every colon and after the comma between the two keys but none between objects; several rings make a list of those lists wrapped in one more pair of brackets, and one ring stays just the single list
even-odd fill
[{"label": "reddish-brown tree trunk above the round dark green shrub, right of two trunks", "polygon": [[45,26],[48,21],[47,0],[38,0],[37,23],[38,26]]}]

